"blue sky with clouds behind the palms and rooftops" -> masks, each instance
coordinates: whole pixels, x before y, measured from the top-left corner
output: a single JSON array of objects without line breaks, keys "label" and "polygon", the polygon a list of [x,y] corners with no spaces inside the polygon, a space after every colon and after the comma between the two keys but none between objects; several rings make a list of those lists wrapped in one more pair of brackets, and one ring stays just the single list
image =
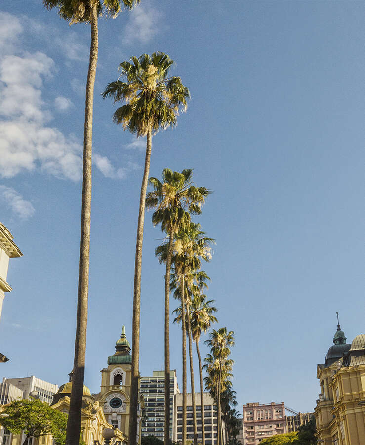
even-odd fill
[{"label": "blue sky with clouds behind the palms and rooftops", "polygon": [[[2,375],[59,385],[73,363],[81,149],[89,28],[40,1],[0,12],[0,221],[24,253],[10,262]],[[131,302],[144,140],[112,122],[100,93],[132,55],[163,51],[192,100],[153,139],[151,176],[194,169],[214,191],[196,221],[216,239],[209,298],[236,334],[242,403],[311,411],[336,311],[364,332],[364,2],[145,1],[99,21],[85,383],[114,353]],[[145,221],[142,375],[163,365],[162,233]],[[175,302],[171,301],[174,307]],[[181,382],[181,334],[171,367]],[[203,352],[205,351],[202,347]],[[198,371],[197,361],[195,362]],[[198,386],[197,386],[198,389]]]}]

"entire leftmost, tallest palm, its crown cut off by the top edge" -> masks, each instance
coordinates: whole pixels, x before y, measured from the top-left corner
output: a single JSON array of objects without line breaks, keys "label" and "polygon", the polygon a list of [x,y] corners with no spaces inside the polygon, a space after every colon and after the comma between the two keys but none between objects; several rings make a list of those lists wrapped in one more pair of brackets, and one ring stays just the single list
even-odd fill
[{"label": "entire leftmost, tallest palm, its crown cut off by the top edge", "polygon": [[116,17],[121,4],[132,8],[140,0],[43,0],[51,10],[58,8],[61,18],[73,23],[90,23],[91,44],[86,81],[85,121],[83,133],[81,237],[79,260],[79,286],[76,320],[74,375],[67,421],[66,444],[79,443],[81,429],[81,404],[85,373],[87,300],[90,256],[90,212],[91,212],[91,154],[92,154],[92,114],[94,83],[98,59],[98,17],[104,13]]}]

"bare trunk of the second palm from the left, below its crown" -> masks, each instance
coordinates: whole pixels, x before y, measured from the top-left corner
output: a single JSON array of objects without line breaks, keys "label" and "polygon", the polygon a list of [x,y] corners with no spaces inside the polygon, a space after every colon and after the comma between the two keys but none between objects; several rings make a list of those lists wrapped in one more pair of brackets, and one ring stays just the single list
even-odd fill
[{"label": "bare trunk of the second palm from the left, below its crown", "polygon": [[147,132],[145,168],[143,172],[141,195],[139,198],[139,213],[137,226],[136,257],[134,263],[134,289],[133,289],[133,320],[132,320],[132,369],[129,408],[129,444],[137,444],[137,407],[138,407],[138,378],[139,378],[139,327],[141,314],[141,269],[142,269],[142,243],[143,226],[145,220],[145,205],[147,183],[150,174],[152,149],[152,131]]}]

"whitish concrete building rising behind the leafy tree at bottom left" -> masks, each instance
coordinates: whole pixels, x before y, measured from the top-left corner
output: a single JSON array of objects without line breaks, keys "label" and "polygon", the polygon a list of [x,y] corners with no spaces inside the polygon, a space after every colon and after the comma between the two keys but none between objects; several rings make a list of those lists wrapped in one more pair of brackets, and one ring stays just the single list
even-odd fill
[{"label": "whitish concrete building rising behind the leafy tree at bottom left", "polygon": [[[1,385],[11,384],[22,391],[22,397],[20,399],[29,399],[29,393],[31,391],[37,391],[40,396],[40,401],[48,403],[50,405],[53,401],[53,395],[58,391],[58,386],[46,382],[45,380],[38,379],[34,375],[30,377],[20,377],[15,379],[8,379],[4,377]],[[5,396],[4,396],[5,397]],[[10,403],[10,401],[2,402],[1,404]]]}]

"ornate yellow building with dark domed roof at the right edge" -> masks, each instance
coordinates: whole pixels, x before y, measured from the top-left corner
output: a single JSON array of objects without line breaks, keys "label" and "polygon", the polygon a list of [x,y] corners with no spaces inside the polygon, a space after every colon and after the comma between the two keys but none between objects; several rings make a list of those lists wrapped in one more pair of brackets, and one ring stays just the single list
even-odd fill
[{"label": "ornate yellow building with dark domed roof at the right edge", "polygon": [[333,343],[317,365],[318,444],[365,445],[365,334],[347,344],[338,324]]}]

